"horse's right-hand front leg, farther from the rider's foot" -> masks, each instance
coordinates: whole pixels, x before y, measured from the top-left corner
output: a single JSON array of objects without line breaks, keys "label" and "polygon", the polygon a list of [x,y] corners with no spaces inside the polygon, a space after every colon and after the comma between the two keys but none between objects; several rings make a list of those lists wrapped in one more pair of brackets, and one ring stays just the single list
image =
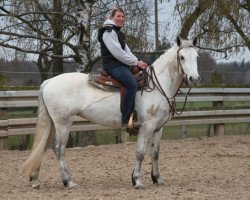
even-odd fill
[{"label": "horse's right-hand front leg, farther from the rider's foot", "polygon": [[161,130],[153,134],[150,144],[150,156],[152,162],[151,178],[153,183],[157,184],[157,186],[165,185],[164,181],[160,178],[159,167],[158,167],[161,135],[162,135],[162,128]]}]

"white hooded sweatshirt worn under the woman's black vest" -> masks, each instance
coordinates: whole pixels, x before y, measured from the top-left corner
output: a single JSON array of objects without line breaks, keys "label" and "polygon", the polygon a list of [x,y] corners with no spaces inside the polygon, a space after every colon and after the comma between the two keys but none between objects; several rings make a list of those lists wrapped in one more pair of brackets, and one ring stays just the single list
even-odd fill
[{"label": "white hooded sweatshirt worn under the woman's black vest", "polygon": [[[106,20],[104,26],[114,25],[113,20]],[[118,40],[117,33],[112,30],[111,32],[105,31],[103,34],[103,42],[110,51],[110,53],[119,61],[126,65],[137,65],[138,58],[131,52],[130,48],[125,44],[124,50]]]}]

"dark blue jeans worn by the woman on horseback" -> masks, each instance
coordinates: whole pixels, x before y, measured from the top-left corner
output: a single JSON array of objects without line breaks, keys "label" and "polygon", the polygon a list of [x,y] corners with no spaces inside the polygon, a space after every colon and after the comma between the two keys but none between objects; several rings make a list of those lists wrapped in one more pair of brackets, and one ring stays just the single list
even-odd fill
[{"label": "dark blue jeans worn by the woman on horseback", "polygon": [[130,114],[134,110],[135,95],[138,83],[132,75],[131,71],[126,66],[118,66],[113,69],[106,70],[107,73],[114,79],[121,82],[126,88],[126,94],[122,105],[122,123],[127,124]]}]

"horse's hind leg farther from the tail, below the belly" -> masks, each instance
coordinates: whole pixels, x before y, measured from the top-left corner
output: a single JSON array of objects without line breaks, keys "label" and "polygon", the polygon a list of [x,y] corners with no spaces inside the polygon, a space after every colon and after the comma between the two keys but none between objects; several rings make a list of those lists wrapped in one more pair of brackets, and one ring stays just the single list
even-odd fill
[{"label": "horse's hind leg farther from the tail, below the belly", "polygon": [[68,188],[73,188],[76,186],[76,183],[74,183],[74,181],[72,180],[69,174],[68,166],[64,159],[66,145],[69,137],[70,125],[71,122],[55,123],[56,134],[53,150],[59,162],[64,186]]}]

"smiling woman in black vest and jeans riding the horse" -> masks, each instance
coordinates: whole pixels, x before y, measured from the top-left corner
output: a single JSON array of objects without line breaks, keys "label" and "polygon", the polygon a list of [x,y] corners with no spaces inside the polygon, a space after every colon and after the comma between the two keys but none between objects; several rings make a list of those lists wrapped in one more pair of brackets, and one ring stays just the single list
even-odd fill
[{"label": "smiling woman in black vest and jeans riding the horse", "polygon": [[130,51],[125,43],[125,35],[121,31],[125,23],[125,13],[120,8],[111,11],[110,18],[99,29],[98,40],[101,44],[103,68],[114,79],[121,82],[126,88],[122,106],[122,125],[127,126],[134,109],[137,81],[129,70],[129,66],[138,66],[145,69],[148,65]]}]

